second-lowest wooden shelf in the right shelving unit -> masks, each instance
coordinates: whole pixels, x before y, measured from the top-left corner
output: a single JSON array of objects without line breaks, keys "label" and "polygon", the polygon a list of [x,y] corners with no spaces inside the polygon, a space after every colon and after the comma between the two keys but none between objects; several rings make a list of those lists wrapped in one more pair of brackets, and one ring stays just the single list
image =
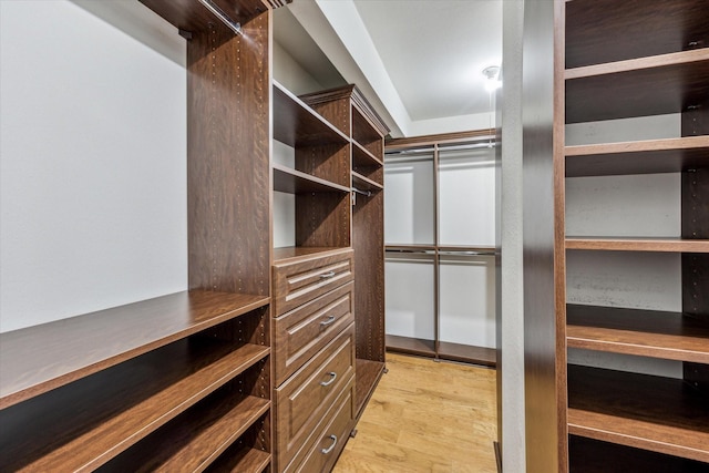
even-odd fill
[{"label": "second-lowest wooden shelf in the right shelving unit", "polygon": [[569,348],[709,364],[709,322],[680,312],[568,305]]}]

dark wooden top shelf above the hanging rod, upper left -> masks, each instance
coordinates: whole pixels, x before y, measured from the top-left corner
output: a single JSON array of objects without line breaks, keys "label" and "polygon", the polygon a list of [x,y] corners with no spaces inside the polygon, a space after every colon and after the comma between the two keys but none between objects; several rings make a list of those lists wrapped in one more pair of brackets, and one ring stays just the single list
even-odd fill
[{"label": "dark wooden top shelf above the hanging rod, upper left", "polygon": [[[261,0],[140,0],[141,3],[163,17],[165,20],[188,32],[205,31],[209,23],[224,23],[232,30],[237,23],[246,22],[266,11]],[[268,0],[277,8],[291,0]],[[236,31],[235,31],[236,34]]]}]

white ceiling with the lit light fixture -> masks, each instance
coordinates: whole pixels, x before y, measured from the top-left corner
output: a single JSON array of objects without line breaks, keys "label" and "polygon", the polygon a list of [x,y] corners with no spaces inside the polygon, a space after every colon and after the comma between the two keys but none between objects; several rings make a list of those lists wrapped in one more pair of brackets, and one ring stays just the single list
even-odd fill
[{"label": "white ceiling with the lit light fixture", "polygon": [[393,136],[487,127],[503,0],[294,0],[275,40],[325,88],[356,83]]}]

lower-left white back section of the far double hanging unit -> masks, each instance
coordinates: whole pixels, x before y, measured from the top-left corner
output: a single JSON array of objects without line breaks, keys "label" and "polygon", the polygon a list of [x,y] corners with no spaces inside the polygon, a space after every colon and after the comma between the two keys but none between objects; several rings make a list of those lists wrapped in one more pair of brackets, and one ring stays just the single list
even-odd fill
[{"label": "lower-left white back section of the far double hanging unit", "polygon": [[433,340],[435,299],[432,255],[387,254],[387,335]]}]

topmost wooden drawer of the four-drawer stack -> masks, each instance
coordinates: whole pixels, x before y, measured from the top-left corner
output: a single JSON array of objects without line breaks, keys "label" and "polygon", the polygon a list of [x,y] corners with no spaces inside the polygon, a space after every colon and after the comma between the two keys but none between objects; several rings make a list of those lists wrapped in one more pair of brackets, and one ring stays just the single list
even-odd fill
[{"label": "topmost wooden drawer of the four-drawer stack", "polygon": [[353,257],[350,248],[326,255],[308,255],[277,263],[274,273],[274,316],[351,281]]}]

